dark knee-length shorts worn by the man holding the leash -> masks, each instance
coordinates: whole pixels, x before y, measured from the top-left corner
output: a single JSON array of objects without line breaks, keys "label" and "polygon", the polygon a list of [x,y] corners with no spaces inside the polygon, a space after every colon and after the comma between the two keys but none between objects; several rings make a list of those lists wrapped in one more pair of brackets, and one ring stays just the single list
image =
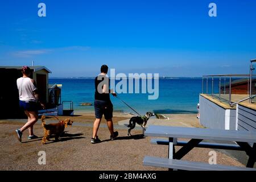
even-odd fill
[{"label": "dark knee-length shorts worn by the man holding the leash", "polygon": [[95,117],[102,118],[104,114],[105,119],[113,118],[113,104],[111,101],[94,100]]}]

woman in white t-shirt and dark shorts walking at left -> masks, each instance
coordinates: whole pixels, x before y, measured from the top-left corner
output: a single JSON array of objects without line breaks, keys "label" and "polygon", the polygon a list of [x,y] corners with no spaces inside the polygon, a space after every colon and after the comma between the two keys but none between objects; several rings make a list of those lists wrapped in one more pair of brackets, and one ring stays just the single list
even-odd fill
[{"label": "woman in white t-shirt and dark shorts walking at left", "polygon": [[22,142],[22,133],[28,129],[28,139],[38,138],[33,133],[33,126],[38,121],[38,102],[44,108],[44,104],[40,103],[36,88],[35,80],[30,78],[31,69],[22,67],[23,76],[17,79],[17,87],[19,90],[19,106],[27,115],[27,123],[20,129],[15,130],[19,142]]}]

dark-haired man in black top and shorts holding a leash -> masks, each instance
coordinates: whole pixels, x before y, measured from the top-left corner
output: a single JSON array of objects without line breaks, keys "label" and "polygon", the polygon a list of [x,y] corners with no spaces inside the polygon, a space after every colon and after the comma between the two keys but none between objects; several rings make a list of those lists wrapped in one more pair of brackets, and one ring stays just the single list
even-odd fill
[{"label": "dark-haired man in black top and shorts holding a leash", "polygon": [[[97,136],[98,128],[100,127],[100,122],[102,115],[104,115],[109,131],[110,139],[114,140],[118,136],[118,131],[114,131],[113,128],[113,104],[110,101],[110,89],[109,89],[109,78],[107,76],[108,66],[101,66],[101,73],[95,78],[95,94],[94,94],[94,110],[95,110],[95,121],[93,123],[93,136],[90,140],[91,143],[100,143],[101,140]],[[115,97],[117,94],[112,93]]]}]

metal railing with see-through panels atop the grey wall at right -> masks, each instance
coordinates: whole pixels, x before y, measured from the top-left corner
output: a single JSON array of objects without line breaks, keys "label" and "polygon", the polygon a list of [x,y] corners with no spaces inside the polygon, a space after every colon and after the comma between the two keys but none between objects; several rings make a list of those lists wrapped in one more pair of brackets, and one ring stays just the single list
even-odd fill
[{"label": "metal railing with see-through panels atop the grey wall at right", "polygon": [[220,102],[227,102],[230,106],[246,100],[253,103],[256,98],[256,75],[254,75],[256,59],[250,62],[250,74],[203,76],[202,93],[208,94]]}]

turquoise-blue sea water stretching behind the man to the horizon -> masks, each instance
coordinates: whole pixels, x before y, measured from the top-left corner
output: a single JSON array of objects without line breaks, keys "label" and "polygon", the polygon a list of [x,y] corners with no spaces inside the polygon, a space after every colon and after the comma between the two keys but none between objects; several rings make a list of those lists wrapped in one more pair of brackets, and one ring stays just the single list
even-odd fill
[{"label": "turquoise-blue sea water stretching behind the man to the horizon", "polygon": [[[73,101],[75,110],[94,111],[93,106],[80,106],[94,100],[94,78],[49,78],[49,84],[63,84],[61,101]],[[119,98],[144,114],[190,114],[197,112],[201,78],[159,78],[159,98],[148,100],[148,94],[118,94]],[[154,85],[154,84],[153,84]],[[114,110],[134,113],[118,98],[110,96]],[[68,105],[64,107],[68,108]]]}]

